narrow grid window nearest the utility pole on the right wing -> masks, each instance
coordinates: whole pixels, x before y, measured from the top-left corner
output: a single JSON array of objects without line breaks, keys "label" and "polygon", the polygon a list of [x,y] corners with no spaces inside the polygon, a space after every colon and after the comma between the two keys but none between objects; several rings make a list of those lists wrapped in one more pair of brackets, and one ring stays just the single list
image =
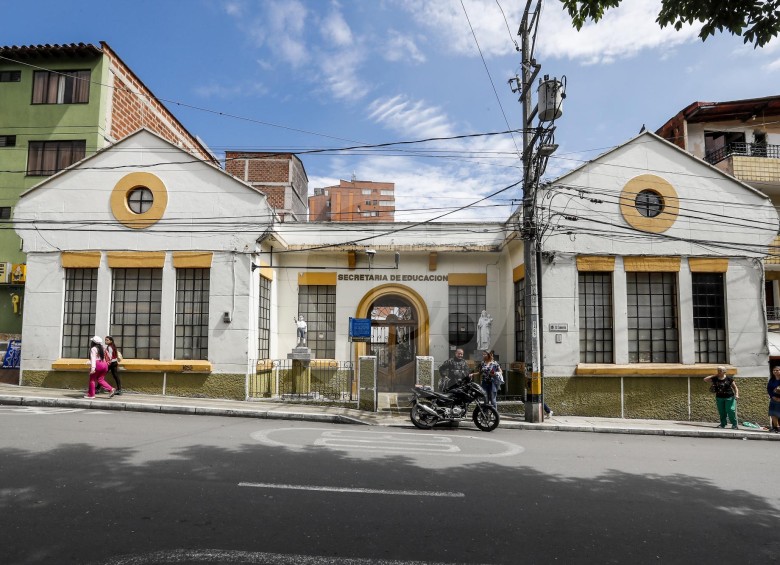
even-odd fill
[{"label": "narrow grid window nearest the utility pole on the right wing", "polygon": [[580,362],[613,363],[612,273],[579,274]]}]

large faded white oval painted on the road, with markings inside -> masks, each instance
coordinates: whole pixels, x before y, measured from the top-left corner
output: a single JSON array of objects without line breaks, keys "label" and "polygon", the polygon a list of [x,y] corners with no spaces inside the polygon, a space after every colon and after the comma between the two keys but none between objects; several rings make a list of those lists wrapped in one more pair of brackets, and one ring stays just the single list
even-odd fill
[{"label": "large faded white oval painted on the road, with markings inside", "polygon": [[[287,433],[319,432],[317,437],[302,443],[274,439]],[[439,457],[497,459],[511,457],[523,453],[525,449],[517,444],[500,439],[486,438],[484,435],[472,436],[452,433],[448,435],[429,434],[425,432],[373,432],[373,431],[334,431],[331,428],[272,428],[252,432],[250,437],[255,441],[271,447],[306,450],[312,447],[340,451],[365,451],[368,453],[410,453],[415,455],[435,455]],[[379,441],[376,441],[378,439]],[[301,440],[299,440],[301,441]],[[461,444],[461,445],[458,445]],[[481,449],[465,452],[469,446],[479,446]],[[486,453],[485,446],[494,446],[496,452]]]}]

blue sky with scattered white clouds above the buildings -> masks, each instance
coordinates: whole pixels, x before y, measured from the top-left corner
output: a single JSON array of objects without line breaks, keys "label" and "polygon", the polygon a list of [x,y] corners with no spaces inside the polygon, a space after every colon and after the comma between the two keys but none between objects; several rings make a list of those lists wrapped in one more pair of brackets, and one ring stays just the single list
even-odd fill
[{"label": "blue sky with scattered white clouds above the buildings", "polygon": [[[657,129],[693,101],[780,94],[777,39],[763,49],[729,35],[702,43],[696,28],[660,29],[659,1],[625,4],[578,33],[558,0],[544,3],[536,58],[541,75],[565,75],[568,85],[547,177],[643,124]],[[302,152],[519,128],[520,104],[507,81],[520,72],[514,42],[524,5],[0,0],[0,20],[10,23],[0,43],[106,41],[218,155]],[[517,182],[521,143],[494,136],[403,146],[403,153],[300,156],[310,192],[353,174],[394,182],[396,219],[421,221]],[[503,219],[519,197],[512,189],[443,219]]]}]

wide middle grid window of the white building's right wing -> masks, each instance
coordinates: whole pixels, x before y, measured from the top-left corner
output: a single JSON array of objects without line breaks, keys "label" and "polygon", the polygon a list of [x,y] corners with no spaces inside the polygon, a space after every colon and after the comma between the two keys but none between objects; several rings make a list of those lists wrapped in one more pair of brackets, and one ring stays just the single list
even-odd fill
[{"label": "wide middle grid window of the white building's right wing", "polygon": [[679,363],[677,276],[626,273],[629,363]]}]

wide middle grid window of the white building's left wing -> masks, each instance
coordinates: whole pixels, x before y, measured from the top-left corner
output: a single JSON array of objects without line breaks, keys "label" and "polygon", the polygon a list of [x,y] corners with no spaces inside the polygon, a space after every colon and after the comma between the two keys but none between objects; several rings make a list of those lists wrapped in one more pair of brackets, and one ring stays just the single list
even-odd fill
[{"label": "wide middle grid window of the white building's left wing", "polygon": [[160,358],[162,269],[113,269],[111,335],[128,358]]}]

